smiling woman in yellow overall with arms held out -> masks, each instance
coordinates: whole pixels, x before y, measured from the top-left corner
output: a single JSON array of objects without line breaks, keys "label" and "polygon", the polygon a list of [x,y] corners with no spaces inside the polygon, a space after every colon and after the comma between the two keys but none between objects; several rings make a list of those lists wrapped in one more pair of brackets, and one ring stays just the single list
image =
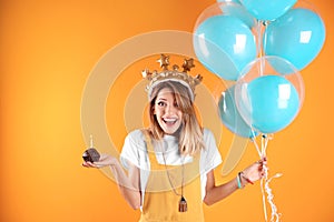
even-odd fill
[{"label": "smiling woman in yellow overall with arms held out", "polygon": [[120,162],[128,173],[107,154],[84,167],[110,167],[121,195],[141,210],[140,222],[204,221],[203,202],[214,204],[259,180],[265,159],[216,185],[214,169],[222,158],[213,133],[196,119],[196,80],[186,72],[161,73],[149,78],[150,127],[130,132],[125,140]]}]

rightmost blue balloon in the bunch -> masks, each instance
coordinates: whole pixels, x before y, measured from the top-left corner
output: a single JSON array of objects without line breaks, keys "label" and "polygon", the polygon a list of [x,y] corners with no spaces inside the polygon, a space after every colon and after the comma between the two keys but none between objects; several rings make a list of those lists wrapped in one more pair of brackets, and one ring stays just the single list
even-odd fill
[{"label": "rightmost blue balloon in the bunch", "polygon": [[302,70],[316,58],[324,41],[325,26],[318,14],[296,8],[267,26],[263,48],[265,54],[284,58]]}]

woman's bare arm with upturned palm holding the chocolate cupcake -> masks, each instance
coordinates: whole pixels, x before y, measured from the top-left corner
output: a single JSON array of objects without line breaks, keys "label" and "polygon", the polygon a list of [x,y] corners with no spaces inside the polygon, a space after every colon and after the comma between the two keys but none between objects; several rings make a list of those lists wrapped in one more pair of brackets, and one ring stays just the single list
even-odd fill
[{"label": "woman's bare arm with upturned palm holding the chocolate cupcake", "polygon": [[108,154],[101,154],[99,161],[97,162],[84,162],[82,165],[87,168],[110,167],[120,194],[132,209],[140,208],[140,173],[137,167],[129,164],[129,171],[127,174],[121,168],[119,161]]}]

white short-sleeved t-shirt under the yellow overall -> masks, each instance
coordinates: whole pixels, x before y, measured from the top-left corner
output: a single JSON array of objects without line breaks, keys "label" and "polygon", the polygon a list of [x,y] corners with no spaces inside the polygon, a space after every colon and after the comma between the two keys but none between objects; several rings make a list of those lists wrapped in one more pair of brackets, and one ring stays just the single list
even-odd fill
[{"label": "white short-sleeved t-shirt under the yellow overall", "polygon": [[[166,164],[181,164],[181,158],[178,150],[178,141],[175,137],[165,135],[164,143],[159,143],[163,145],[156,144],[157,142],[153,140],[153,145],[155,148],[158,163],[164,164],[164,151]],[[207,180],[206,174],[222,163],[222,157],[217,149],[214,134],[207,129],[204,129],[204,144],[205,149],[202,149],[199,160],[202,200],[205,196],[205,186]],[[150,163],[147,155],[145,135],[141,130],[135,130],[130,132],[125,139],[125,143],[120,153],[120,162],[126,169],[129,168],[128,161],[140,169],[140,186],[143,196],[141,202],[144,202],[145,188],[149,175]],[[184,158],[184,163],[188,163],[191,161],[193,158],[189,155]]]}]

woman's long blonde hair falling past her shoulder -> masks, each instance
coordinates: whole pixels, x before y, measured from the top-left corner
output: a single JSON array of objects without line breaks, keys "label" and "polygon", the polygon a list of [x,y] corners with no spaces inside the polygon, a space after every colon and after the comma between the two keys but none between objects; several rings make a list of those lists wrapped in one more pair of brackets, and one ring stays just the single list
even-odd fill
[{"label": "woman's long blonde hair falling past her shoulder", "polygon": [[183,112],[183,121],[180,125],[178,148],[181,154],[195,155],[200,149],[204,148],[203,129],[197,120],[193,101],[188,89],[179,82],[166,81],[156,85],[151,92],[149,103],[149,120],[150,120],[150,135],[155,140],[161,140],[165,135],[164,130],[160,128],[155,114],[154,107],[158,93],[168,88],[171,90],[179,110]]}]

